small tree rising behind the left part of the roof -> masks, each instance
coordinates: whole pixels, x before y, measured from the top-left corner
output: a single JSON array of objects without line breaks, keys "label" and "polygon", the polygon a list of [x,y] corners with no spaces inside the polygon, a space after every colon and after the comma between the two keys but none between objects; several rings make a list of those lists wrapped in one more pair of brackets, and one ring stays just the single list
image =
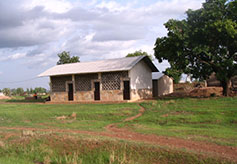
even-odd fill
[{"label": "small tree rising behind the left part of the roof", "polygon": [[66,51],[59,53],[58,57],[59,57],[59,61],[57,62],[57,65],[80,62],[78,56],[71,57],[70,52],[66,52]]}]

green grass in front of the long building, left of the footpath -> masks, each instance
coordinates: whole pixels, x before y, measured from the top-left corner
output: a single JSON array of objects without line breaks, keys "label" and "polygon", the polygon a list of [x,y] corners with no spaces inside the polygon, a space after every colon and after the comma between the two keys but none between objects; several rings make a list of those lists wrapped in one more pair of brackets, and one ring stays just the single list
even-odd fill
[{"label": "green grass in front of the long building, left of the footpath", "polygon": [[[103,130],[138,112],[137,104],[0,104],[0,125],[8,127]],[[77,114],[76,120],[56,117]]]}]

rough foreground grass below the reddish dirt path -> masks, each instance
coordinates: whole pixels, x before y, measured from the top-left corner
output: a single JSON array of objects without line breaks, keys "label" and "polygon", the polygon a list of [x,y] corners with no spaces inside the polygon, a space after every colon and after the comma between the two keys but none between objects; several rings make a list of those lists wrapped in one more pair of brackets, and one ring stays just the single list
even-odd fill
[{"label": "rough foreground grass below the reddish dirt path", "polygon": [[87,136],[44,135],[14,138],[0,147],[4,164],[143,164],[143,163],[230,163],[185,150]]}]

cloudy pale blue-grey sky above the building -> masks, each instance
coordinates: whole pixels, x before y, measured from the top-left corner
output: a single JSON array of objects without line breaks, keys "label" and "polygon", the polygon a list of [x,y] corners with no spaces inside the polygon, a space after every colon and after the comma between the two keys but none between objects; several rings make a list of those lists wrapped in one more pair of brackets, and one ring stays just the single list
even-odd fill
[{"label": "cloudy pale blue-grey sky above the building", "polygon": [[[69,51],[80,61],[154,54],[164,23],[184,19],[203,0],[7,0],[0,1],[0,89],[49,89],[37,75]],[[162,72],[167,62],[155,65]]]}]

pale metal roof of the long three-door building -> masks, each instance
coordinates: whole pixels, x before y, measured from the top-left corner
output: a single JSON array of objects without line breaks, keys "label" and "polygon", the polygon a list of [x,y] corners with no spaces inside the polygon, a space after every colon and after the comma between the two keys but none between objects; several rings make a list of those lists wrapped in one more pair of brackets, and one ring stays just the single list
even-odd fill
[{"label": "pale metal roof of the long three-door building", "polygon": [[57,76],[57,75],[70,75],[70,74],[84,74],[96,72],[112,72],[112,71],[125,71],[130,70],[139,61],[143,60],[148,64],[153,72],[157,72],[154,64],[147,59],[147,56],[138,57],[125,57],[118,59],[108,59],[93,62],[80,62],[72,64],[56,65],[45,72],[38,75],[42,76]]}]

